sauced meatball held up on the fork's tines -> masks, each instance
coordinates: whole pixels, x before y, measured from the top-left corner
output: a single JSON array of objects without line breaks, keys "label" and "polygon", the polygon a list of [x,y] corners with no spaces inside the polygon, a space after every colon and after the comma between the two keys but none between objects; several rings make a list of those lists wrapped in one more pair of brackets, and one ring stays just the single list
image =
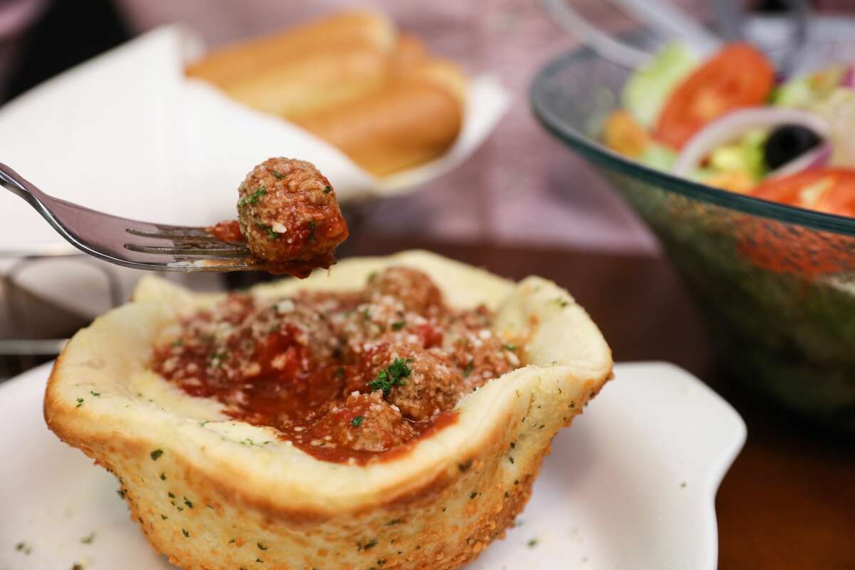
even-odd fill
[{"label": "sauced meatball held up on the fork's tines", "polygon": [[269,158],[246,175],[239,194],[240,232],[261,261],[328,267],[347,238],[333,186],[310,162]]}]

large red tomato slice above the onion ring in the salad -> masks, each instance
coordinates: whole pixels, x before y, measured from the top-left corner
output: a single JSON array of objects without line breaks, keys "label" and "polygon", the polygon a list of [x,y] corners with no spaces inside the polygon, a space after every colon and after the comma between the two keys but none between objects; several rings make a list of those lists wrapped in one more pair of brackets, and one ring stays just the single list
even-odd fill
[{"label": "large red tomato slice above the onion ring in the salad", "polygon": [[677,86],[659,115],[655,138],[680,149],[711,120],[762,105],[775,68],[749,44],[729,44]]}]

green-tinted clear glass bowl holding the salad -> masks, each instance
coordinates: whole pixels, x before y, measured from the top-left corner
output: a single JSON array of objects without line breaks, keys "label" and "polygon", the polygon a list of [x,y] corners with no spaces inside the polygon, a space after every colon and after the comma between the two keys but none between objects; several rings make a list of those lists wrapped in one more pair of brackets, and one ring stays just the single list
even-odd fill
[{"label": "green-tinted clear glass bowl holding the salad", "polygon": [[855,435],[855,219],[717,190],[607,150],[599,126],[629,73],[589,48],[559,57],[534,80],[534,115],[657,234],[734,378]]}]

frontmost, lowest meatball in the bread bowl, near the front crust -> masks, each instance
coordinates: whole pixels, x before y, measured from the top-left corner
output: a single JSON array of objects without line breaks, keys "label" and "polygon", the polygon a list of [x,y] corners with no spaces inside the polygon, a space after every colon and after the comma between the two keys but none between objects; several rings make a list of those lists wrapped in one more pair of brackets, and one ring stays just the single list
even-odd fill
[{"label": "frontmost, lowest meatball in the bread bowl, near the front crust", "polygon": [[312,445],[335,444],[350,450],[386,451],[416,437],[401,412],[373,394],[351,394],[311,426]]}]

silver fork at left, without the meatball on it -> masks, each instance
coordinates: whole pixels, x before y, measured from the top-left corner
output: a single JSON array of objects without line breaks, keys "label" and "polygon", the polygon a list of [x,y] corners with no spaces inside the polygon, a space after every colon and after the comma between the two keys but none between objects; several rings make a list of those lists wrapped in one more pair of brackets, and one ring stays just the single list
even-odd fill
[{"label": "silver fork at left, without the meatball on it", "polygon": [[212,236],[203,227],[127,220],[51,197],[0,163],[0,185],[27,200],[56,232],[90,256],[149,271],[248,271],[264,266],[245,244]]}]

